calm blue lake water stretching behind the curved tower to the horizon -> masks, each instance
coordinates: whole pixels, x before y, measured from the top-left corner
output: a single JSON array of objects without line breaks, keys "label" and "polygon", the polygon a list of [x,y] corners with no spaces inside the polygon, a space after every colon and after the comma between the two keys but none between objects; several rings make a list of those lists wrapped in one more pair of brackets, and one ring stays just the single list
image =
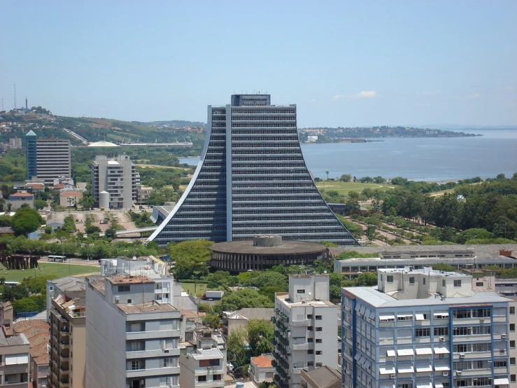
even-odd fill
[{"label": "calm blue lake water stretching behind the curved tower to the horizon", "polygon": [[[385,138],[371,143],[302,144],[314,176],[341,174],[445,181],[517,172],[517,130],[472,130],[482,137]],[[180,158],[197,165],[199,158]]]}]

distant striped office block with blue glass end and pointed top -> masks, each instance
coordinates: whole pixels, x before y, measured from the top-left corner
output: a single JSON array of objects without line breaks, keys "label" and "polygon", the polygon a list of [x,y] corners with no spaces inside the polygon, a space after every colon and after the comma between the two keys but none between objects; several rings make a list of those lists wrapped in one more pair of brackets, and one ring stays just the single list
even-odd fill
[{"label": "distant striped office block with blue glass end and pointed top", "polygon": [[37,139],[33,131],[25,139],[27,179],[37,177],[52,185],[55,179],[71,177],[69,139]]}]

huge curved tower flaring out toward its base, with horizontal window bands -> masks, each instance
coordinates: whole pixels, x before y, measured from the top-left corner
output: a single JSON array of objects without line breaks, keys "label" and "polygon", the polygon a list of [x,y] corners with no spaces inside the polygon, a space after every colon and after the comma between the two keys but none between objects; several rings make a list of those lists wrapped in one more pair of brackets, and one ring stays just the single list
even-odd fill
[{"label": "huge curved tower flaring out toward its base, with horizontal window bands", "polygon": [[208,106],[205,146],[192,181],[149,240],[332,241],[357,245],[316,188],[299,144],[296,105],[232,95]]}]

